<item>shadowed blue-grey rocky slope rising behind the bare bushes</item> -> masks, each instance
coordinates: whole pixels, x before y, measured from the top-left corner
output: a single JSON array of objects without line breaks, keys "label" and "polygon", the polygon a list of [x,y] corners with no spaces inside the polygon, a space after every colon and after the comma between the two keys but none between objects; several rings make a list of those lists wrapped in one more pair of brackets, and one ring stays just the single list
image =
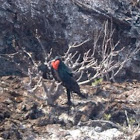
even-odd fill
[{"label": "shadowed blue-grey rocky slope rising behind the bare bushes", "polygon": [[[119,47],[134,49],[140,46],[139,13],[139,1],[133,0],[1,0],[0,54],[15,52],[15,45],[34,52],[35,58],[43,61],[35,38],[37,30],[46,50],[53,48],[54,55],[62,54],[69,44],[88,38],[91,42],[85,45],[90,48],[93,36],[106,20],[112,21],[115,29],[114,42],[120,40]],[[139,55],[124,69],[126,77],[140,79]],[[0,57],[0,62],[0,75],[18,73],[5,57]]]}]

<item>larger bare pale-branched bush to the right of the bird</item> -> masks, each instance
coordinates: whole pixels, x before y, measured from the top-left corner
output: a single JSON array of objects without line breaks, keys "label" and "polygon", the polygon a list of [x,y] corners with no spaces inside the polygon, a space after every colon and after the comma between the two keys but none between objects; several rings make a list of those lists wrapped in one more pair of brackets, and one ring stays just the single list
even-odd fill
[{"label": "larger bare pale-branched bush to the right of the bird", "polygon": [[[125,47],[118,49],[119,41],[113,43],[114,30],[109,28],[108,21],[105,22],[102,30],[98,32],[94,38],[93,48],[89,49],[82,56],[78,51],[71,52],[71,49],[81,47],[88,40],[81,44],[69,46],[64,54],[65,63],[71,67],[77,77],[79,84],[87,84],[99,77],[106,77],[107,80],[115,80],[114,77],[122,70],[124,65],[132,59],[140,50],[140,46],[129,50],[124,54],[123,59],[118,59],[123,53]],[[102,42],[100,42],[102,36]],[[75,59],[75,56],[78,57]],[[98,56],[98,57],[97,57]],[[115,59],[116,58],[116,59]],[[82,61],[80,61],[82,59]],[[118,60],[117,60],[118,59]],[[90,71],[89,71],[90,70]],[[94,72],[94,75],[92,74]],[[83,75],[87,75],[87,79],[82,81]]]}]

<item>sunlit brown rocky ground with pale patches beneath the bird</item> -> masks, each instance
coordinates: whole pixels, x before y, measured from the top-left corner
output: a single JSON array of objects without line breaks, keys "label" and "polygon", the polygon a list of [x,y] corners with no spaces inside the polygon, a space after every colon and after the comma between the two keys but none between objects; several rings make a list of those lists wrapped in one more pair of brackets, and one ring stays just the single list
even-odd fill
[{"label": "sunlit brown rocky ground with pale patches beneath the bird", "polygon": [[27,93],[24,80],[0,78],[0,140],[140,139],[139,82],[82,86],[87,99],[73,94],[67,106],[62,94],[49,106]]}]

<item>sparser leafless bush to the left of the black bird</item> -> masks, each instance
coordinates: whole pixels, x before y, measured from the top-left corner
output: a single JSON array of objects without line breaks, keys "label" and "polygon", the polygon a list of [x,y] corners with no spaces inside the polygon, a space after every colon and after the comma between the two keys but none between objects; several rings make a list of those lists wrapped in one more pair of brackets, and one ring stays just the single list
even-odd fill
[{"label": "sparser leafless bush to the left of the black bird", "polygon": [[[42,45],[39,37],[37,39],[40,45]],[[55,100],[58,99],[58,97],[64,92],[61,83],[56,83],[54,80],[49,80],[49,82],[44,80],[42,72],[39,70],[41,62],[35,61],[33,54],[26,51],[24,47],[16,46],[15,44],[13,44],[13,47],[15,48],[15,53],[0,56],[13,62],[16,68],[28,77],[28,80],[23,80],[21,82],[30,95],[34,96],[38,100],[44,100],[48,104],[53,105]],[[43,49],[43,46],[41,47]],[[47,65],[49,70],[51,52],[46,53],[45,50],[43,50],[43,53],[45,65]],[[16,59],[18,59],[18,62]]]}]

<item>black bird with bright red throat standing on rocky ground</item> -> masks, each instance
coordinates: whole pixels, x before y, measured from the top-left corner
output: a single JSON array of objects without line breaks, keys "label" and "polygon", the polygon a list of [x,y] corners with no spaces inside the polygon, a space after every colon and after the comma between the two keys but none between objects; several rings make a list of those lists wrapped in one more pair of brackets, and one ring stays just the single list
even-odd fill
[{"label": "black bird with bright red throat standing on rocky ground", "polygon": [[86,96],[80,92],[80,87],[76,82],[76,80],[74,79],[71,70],[62,62],[62,60],[59,57],[56,57],[51,62],[51,71],[55,80],[62,82],[62,85],[66,87],[68,99],[67,104],[69,105],[72,104],[71,102],[72,91],[77,93],[80,97],[86,98]]}]

